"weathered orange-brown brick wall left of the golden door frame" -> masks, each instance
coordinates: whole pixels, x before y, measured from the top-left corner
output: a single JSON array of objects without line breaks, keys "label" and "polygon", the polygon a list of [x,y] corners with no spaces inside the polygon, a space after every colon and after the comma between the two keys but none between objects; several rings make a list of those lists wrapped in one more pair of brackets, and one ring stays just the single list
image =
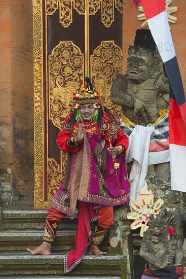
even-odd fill
[{"label": "weathered orange-brown brick wall left of the golden door frame", "polygon": [[1,171],[23,210],[34,191],[32,1],[1,1],[1,22]]}]

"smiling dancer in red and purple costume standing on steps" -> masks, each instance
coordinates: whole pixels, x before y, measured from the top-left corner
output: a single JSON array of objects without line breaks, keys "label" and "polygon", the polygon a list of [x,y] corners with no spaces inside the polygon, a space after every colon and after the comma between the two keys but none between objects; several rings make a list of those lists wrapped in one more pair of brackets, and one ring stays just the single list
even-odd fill
[{"label": "smiling dancer in red and purple costume standing on steps", "polygon": [[[69,272],[90,255],[105,255],[98,248],[113,225],[113,206],[129,201],[129,183],[125,167],[128,137],[113,115],[103,106],[89,78],[83,93],[73,93],[76,107],[65,119],[57,137],[57,146],[67,153],[64,182],[47,210],[42,244],[31,255],[50,255],[51,243],[61,219],[75,217],[78,202],[76,248],[65,256]],[[93,235],[90,222],[97,221]]]}]

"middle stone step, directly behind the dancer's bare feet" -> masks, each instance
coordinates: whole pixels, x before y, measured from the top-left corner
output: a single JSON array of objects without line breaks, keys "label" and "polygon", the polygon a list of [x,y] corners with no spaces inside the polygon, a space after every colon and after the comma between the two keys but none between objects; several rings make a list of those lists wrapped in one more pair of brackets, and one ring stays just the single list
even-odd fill
[{"label": "middle stone step, directly behind the dancer's bare feet", "polygon": [[[52,243],[52,253],[66,254],[75,248],[75,230],[58,231]],[[0,232],[0,254],[28,254],[27,248],[34,249],[43,241],[42,231]],[[108,237],[105,236],[101,249],[108,251]]]}]

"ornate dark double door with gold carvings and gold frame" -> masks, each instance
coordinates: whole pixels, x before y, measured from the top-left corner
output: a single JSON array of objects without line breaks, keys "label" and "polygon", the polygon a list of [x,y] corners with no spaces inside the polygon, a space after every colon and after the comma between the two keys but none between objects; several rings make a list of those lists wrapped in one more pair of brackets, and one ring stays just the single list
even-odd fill
[{"label": "ornate dark double door with gold carvings and gold frame", "polygon": [[33,0],[37,209],[49,206],[63,181],[66,156],[56,138],[84,77],[119,120],[109,95],[122,73],[122,9],[122,0]]}]

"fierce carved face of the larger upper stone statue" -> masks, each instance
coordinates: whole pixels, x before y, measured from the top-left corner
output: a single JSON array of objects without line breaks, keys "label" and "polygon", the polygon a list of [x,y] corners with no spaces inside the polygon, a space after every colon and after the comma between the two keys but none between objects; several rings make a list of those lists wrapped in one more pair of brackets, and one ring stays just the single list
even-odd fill
[{"label": "fierce carved face of the larger upper stone statue", "polygon": [[148,78],[148,68],[141,57],[131,56],[127,63],[127,74],[130,80],[141,83]]}]

